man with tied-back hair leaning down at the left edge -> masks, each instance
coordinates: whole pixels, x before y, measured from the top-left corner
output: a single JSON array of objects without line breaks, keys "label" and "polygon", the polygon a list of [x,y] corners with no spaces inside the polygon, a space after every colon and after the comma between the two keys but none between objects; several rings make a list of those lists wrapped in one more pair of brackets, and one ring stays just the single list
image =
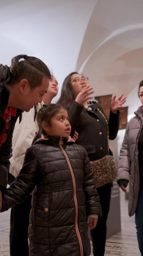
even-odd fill
[{"label": "man with tied-back hair leaning down at the left edge", "polygon": [[42,101],[50,79],[48,67],[36,57],[18,55],[10,67],[0,64],[0,209],[10,166],[12,134],[22,110]]}]

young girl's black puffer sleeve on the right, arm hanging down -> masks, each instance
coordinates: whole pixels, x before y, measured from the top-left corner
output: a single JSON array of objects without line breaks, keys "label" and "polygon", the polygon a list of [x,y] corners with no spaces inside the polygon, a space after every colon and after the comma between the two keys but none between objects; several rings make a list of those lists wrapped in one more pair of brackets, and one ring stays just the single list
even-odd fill
[{"label": "young girl's black puffer sleeve on the right, arm hanging down", "polygon": [[99,195],[96,189],[95,178],[93,177],[93,172],[91,169],[89,158],[87,156],[87,152],[85,152],[85,160],[84,160],[83,190],[85,193],[85,200],[86,200],[85,205],[86,205],[87,215],[98,214],[99,216],[101,216],[102,209],[99,203]]}]

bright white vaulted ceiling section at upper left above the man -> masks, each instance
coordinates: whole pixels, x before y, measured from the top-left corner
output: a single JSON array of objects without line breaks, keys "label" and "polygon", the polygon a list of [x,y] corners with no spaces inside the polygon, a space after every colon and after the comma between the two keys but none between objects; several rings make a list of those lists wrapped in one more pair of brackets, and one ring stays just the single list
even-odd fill
[{"label": "bright white vaulted ceiling section at upper left above the man", "polygon": [[34,55],[59,85],[75,70],[85,30],[97,0],[0,0],[0,63]]}]

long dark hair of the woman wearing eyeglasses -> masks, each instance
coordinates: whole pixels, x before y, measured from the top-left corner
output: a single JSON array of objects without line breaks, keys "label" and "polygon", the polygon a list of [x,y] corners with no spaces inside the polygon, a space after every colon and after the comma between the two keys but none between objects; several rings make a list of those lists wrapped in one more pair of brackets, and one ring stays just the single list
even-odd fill
[{"label": "long dark hair of the woman wearing eyeglasses", "polygon": [[[61,95],[57,102],[57,103],[61,104],[62,106],[66,107],[68,110],[70,109],[73,101],[75,100],[75,97],[72,93],[72,85],[71,85],[71,77],[74,74],[78,74],[78,73],[72,72],[64,79]],[[85,108],[83,108],[83,111],[81,112],[81,116],[79,118],[78,124],[80,126],[83,126],[83,124],[85,124],[88,120],[89,120],[89,116],[88,116]]]}]

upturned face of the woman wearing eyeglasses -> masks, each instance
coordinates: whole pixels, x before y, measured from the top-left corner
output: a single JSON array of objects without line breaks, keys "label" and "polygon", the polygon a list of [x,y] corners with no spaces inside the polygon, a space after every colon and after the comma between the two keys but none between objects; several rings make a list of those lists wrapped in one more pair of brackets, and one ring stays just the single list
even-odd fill
[{"label": "upturned face of the woman wearing eyeglasses", "polygon": [[73,74],[71,76],[71,85],[72,85],[72,93],[76,98],[77,95],[82,91],[82,89],[87,87],[88,78],[83,77],[82,75],[79,75],[79,74]]}]

